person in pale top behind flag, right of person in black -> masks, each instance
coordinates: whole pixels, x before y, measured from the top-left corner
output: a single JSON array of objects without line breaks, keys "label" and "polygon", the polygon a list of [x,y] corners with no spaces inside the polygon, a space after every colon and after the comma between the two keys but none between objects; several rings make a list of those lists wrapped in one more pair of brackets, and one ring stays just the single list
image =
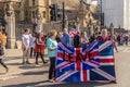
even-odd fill
[{"label": "person in pale top behind flag, right of person in black", "polygon": [[81,39],[80,39],[81,47],[87,47],[89,45],[89,37],[87,36],[87,33],[81,33]]}]

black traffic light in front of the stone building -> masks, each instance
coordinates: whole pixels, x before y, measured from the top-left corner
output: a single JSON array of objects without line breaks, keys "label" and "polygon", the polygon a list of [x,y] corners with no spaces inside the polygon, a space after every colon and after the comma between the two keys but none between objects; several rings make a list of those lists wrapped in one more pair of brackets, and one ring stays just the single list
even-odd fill
[{"label": "black traffic light in front of the stone building", "polygon": [[57,21],[57,4],[51,4],[50,9],[51,21]]}]

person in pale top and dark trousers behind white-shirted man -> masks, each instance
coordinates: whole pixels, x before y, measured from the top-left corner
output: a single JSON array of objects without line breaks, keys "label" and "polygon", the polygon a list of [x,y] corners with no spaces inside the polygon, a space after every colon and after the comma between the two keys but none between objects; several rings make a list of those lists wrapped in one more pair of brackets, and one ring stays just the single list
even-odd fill
[{"label": "person in pale top and dark trousers behind white-shirted man", "polygon": [[35,40],[36,40],[36,35],[32,34],[32,36],[30,36],[30,58],[36,57]]}]

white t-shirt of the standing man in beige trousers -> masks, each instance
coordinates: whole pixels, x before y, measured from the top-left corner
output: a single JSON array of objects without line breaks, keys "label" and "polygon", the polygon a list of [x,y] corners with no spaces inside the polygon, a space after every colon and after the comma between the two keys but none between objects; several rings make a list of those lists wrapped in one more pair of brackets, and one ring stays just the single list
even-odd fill
[{"label": "white t-shirt of the standing man in beige trousers", "polygon": [[30,35],[23,34],[22,35],[23,40],[23,47],[29,47],[30,46]]}]

